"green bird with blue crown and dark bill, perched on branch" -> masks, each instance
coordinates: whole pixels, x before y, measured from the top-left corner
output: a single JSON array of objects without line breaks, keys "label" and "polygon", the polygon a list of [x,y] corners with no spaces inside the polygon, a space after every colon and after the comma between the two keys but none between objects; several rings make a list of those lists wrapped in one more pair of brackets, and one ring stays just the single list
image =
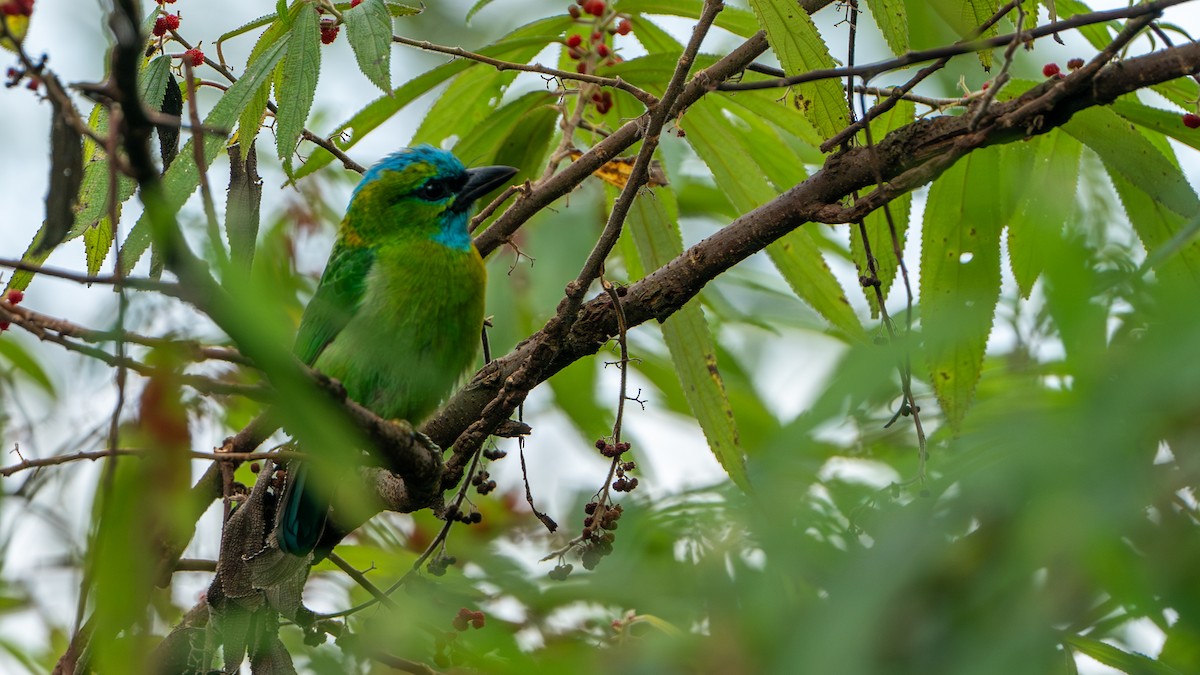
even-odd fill
[{"label": "green bird with blue crown and dark bill, perched on branch", "polygon": [[[300,318],[295,356],[379,417],[416,426],[479,352],[487,274],[467,225],[474,202],[516,173],[468,169],[430,145],[367,169]],[[276,512],[278,546],[296,556],[317,548],[330,514],[311,464],[292,461]]]}]

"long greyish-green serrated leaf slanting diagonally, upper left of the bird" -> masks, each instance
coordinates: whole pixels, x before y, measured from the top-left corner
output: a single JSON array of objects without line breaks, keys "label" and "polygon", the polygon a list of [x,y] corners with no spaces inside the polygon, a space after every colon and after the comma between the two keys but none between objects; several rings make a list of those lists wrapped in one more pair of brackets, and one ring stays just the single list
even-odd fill
[{"label": "long greyish-green serrated leaf slanting diagonally, upper left of the bird", "polygon": [[[290,36],[290,32],[288,34]],[[246,68],[241,79],[233,83],[228,91],[217,101],[216,106],[204,118],[206,129],[229,129],[234,120],[241,114],[246,106],[253,100],[254,94],[268,82],[271,71],[283,58],[287,49],[288,37],[281,38],[275,44],[268,47],[258,59]],[[191,151],[193,141],[188,141],[180,151],[179,157],[172,162],[170,168],[162,178],[162,195],[167,208],[178,211],[187,198],[199,187],[200,173],[196,166],[196,159]],[[224,147],[226,137],[217,133],[204,136],[204,161],[205,166],[216,159]],[[121,267],[124,273],[133,269],[133,265],[142,258],[150,247],[150,222],[145,215],[130,229],[121,249]]]}]

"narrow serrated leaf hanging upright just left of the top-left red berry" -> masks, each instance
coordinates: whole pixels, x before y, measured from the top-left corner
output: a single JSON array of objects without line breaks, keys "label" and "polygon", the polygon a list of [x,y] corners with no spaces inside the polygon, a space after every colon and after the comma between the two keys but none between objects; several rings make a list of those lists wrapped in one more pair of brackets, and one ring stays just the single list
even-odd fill
[{"label": "narrow serrated leaf hanging upright just left of the top-left red berry", "polygon": [[[371,2],[372,0],[366,0]],[[382,1],[382,0],[376,0]],[[364,2],[364,5],[366,5]],[[280,70],[276,96],[278,112],[275,113],[275,148],[283,160],[283,171],[292,174],[292,161],[296,143],[304,132],[312,100],[320,76],[320,17],[317,12],[300,12],[288,31],[288,49]],[[246,109],[260,97],[256,90],[247,101]],[[239,115],[240,117],[240,115]]]}]

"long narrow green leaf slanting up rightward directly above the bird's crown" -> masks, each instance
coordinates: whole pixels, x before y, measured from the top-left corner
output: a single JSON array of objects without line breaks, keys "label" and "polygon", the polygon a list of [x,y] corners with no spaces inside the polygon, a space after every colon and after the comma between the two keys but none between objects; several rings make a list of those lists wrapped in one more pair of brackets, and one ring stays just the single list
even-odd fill
[{"label": "long narrow green leaf slanting up rightward directly above the bird's crown", "polygon": [[[545,47],[550,41],[557,40],[562,31],[570,25],[571,20],[572,19],[570,17],[562,16],[523,25],[497,42],[478,49],[476,53],[484,54],[485,56],[504,59],[509,54],[529,44],[540,43]],[[463,70],[470,67],[470,61],[458,59],[443,66],[438,66],[432,71],[406,82],[403,85],[392,90],[389,95],[376,98],[365,108],[355,113],[354,117],[338,126],[331,137],[337,139],[336,142],[338,147],[343,150],[353,147],[361,141],[362,137],[376,130],[388,119],[391,119],[392,115],[412,103],[415,98],[446,79],[461,73]],[[332,160],[334,155],[331,155],[328,150],[313,150],[312,155],[310,155],[305,165],[296,171],[295,175],[296,178],[302,178],[314,173],[322,167],[328,166]]]}]

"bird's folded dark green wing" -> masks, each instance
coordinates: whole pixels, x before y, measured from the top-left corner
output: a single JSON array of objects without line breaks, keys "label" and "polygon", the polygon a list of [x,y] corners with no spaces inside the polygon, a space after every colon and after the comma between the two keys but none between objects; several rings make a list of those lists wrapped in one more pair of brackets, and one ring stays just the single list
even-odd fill
[{"label": "bird's folded dark green wing", "polygon": [[365,246],[338,243],[320,275],[317,293],[300,318],[295,353],[307,365],[346,328],[362,303],[367,275],[374,263],[374,251]]}]

